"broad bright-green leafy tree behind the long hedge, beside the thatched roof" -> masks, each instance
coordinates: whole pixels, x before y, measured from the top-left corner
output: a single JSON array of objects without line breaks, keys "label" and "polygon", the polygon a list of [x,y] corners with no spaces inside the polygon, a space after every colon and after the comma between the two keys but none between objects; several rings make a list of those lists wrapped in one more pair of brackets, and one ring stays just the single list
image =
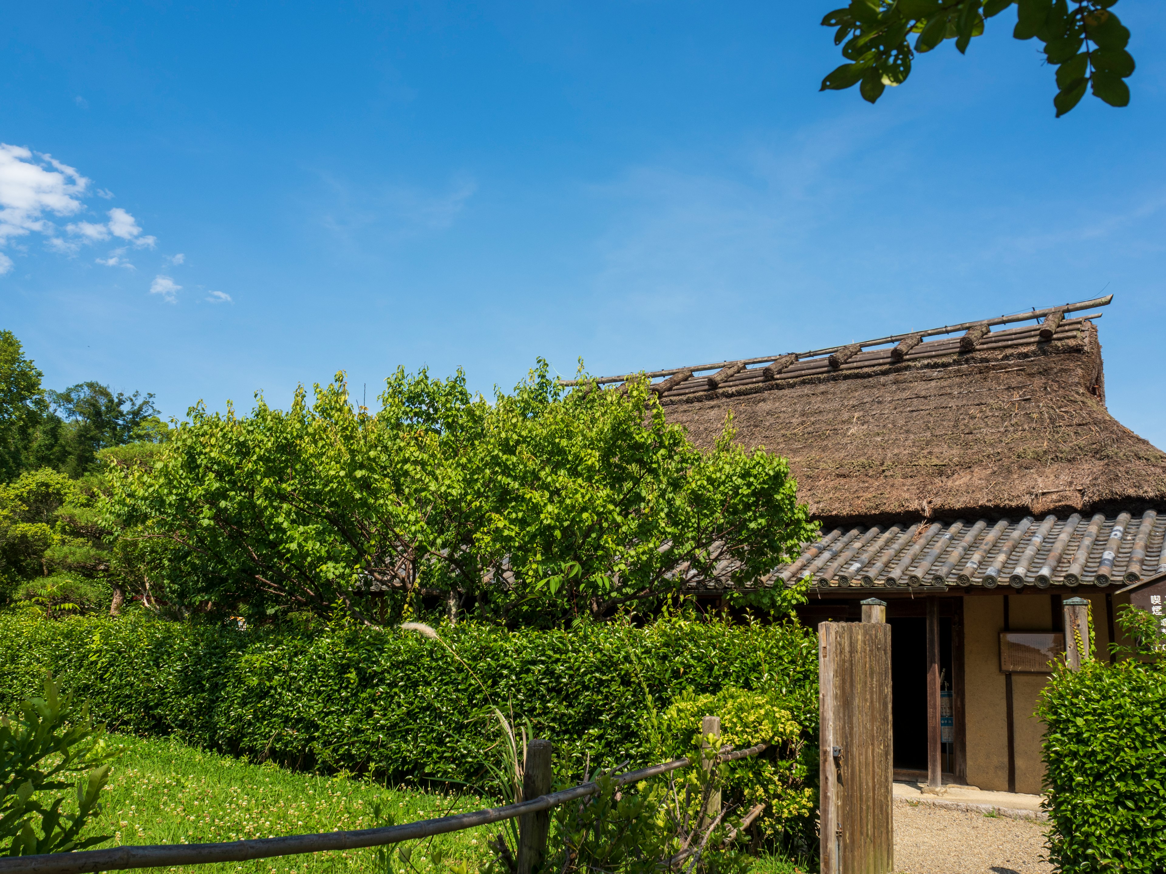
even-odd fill
[{"label": "broad bright-green leafy tree behind the long hedge, beside the thatched roof", "polygon": [[[605,615],[693,576],[756,579],[808,540],[781,458],[732,429],[708,452],[665,421],[646,383],[567,390],[545,362],[512,394],[473,396],[398,371],[375,414],[340,375],[287,411],[191,410],[148,467],[125,468],[107,523],[135,530],[175,605],[370,621],[420,593],[515,623]],[[785,590],[763,605],[787,606]]]}]

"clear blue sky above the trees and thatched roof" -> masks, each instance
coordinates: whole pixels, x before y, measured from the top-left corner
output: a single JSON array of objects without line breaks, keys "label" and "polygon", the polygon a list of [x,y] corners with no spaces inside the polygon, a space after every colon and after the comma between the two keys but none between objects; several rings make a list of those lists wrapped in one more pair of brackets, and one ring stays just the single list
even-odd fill
[{"label": "clear blue sky above the trees and thatched roof", "polygon": [[1156,5],[1116,8],[1131,106],[1061,119],[1013,12],[874,107],[819,93],[834,5],[12,6],[0,182],[41,199],[9,213],[0,326],[50,387],[181,416],[340,369],[489,393],[536,355],[654,369],[1104,289],[1110,409],[1166,446]]}]

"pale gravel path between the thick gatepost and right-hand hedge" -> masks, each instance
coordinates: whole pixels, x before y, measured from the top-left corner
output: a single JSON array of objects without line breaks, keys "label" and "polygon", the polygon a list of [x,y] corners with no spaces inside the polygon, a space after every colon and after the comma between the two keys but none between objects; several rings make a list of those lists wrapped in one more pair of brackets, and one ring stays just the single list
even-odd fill
[{"label": "pale gravel path between the thick gatepost and right-hand hedge", "polygon": [[895,802],[894,869],[905,874],[1051,874],[1045,823]]}]

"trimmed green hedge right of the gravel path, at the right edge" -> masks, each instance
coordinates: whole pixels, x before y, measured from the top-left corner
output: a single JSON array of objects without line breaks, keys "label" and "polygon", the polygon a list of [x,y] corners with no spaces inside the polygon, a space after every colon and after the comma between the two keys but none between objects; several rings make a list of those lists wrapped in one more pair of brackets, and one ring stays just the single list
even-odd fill
[{"label": "trimmed green hedge right of the gravel path, at the right edge", "polygon": [[1041,695],[1049,857],[1065,874],[1166,871],[1166,672],[1061,668]]}]

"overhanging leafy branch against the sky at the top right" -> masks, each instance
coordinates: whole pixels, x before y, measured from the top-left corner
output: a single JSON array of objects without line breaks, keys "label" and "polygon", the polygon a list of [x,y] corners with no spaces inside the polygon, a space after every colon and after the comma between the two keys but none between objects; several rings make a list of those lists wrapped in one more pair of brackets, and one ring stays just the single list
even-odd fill
[{"label": "overhanging leafy branch against the sky at the top right", "polygon": [[1125,50],[1130,31],[1111,10],[1117,0],[851,0],[822,19],[837,28],[834,44],[842,44],[847,58],[822,79],[822,90],[858,85],[863,98],[874,103],[887,85],[907,80],[916,51],[955,40],[964,54],[972,37],[984,33],[985,20],[1013,3],[1012,35],[1039,40],[1046,62],[1056,68],[1058,118],[1077,105],[1087,87],[1110,106],[1130,103],[1125,79],[1135,64]]}]

